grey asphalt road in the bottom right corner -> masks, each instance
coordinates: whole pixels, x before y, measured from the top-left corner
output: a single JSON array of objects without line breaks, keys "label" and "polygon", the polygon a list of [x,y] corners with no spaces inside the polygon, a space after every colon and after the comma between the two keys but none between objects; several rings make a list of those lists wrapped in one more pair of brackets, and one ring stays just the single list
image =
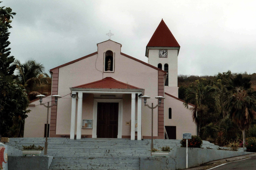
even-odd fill
[{"label": "grey asphalt road in the bottom right corner", "polygon": [[256,157],[230,162],[211,170],[256,170]]}]

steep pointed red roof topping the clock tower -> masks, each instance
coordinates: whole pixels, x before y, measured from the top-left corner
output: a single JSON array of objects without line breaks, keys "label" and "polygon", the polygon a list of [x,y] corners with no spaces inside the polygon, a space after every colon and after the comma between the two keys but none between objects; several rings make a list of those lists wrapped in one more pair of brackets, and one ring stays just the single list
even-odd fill
[{"label": "steep pointed red roof topping the clock tower", "polygon": [[162,19],[147,47],[181,47]]}]

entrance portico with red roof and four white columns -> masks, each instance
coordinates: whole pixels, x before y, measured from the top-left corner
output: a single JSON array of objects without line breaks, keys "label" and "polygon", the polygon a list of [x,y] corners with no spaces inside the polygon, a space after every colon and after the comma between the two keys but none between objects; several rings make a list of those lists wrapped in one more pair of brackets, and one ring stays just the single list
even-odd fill
[{"label": "entrance portico with red roof and four white columns", "polygon": [[[93,87],[93,88],[92,88]],[[114,88],[111,88],[114,87]],[[131,140],[135,140],[135,117],[136,117],[136,111],[137,111],[137,140],[141,140],[141,119],[142,119],[142,102],[141,98],[138,97],[140,95],[144,94],[144,89],[140,89],[138,87],[134,87],[122,82],[119,82],[111,77],[106,77],[105,79],[102,79],[100,81],[96,81],[93,83],[87,83],[81,86],[72,87],[70,88],[72,91],[72,109],[71,109],[71,126],[70,126],[70,139],[75,138],[75,115],[77,112],[77,121],[76,121],[76,139],[81,139],[82,136],[82,114],[91,114],[92,115],[92,138],[98,138],[97,130],[99,131],[100,125],[102,125],[102,122],[99,121],[98,115],[101,114],[98,109],[99,103],[118,103],[118,118],[116,120],[116,127],[115,125],[112,125],[114,128],[111,128],[111,131],[115,131],[117,129],[117,137],[116,138],[122,138],[123,133],[127,133],[127,129],[123,129],[124,119],[123,119],[123,108],[125,105],[125,108],[127,106],[130,107],[130,121],[131,121]],[[86,94],[93,94],[93,111],[92,112],[83,112],[83,95]],[[125,97],[124,102],[123,98]],[[117,104],[116,104],[117,105]],[[137,105],[137,107],[136,107]],[[77,106],[77,107],[76,107]],[[137,109],[136,109],[137,108]],[[76,111],[77,109],[77,111]],[[104,109],[103,109],[104,110]],[[108,114],[112,114],[108,113]],[[126,111],[127,114],[127,111]],[[104,116],[103,116],[104,117]],[[126,115],[127,117],[127,115]],[[115,122],[115,120],[108,120],[110,122]],[[107,121],[107,122],[108,122]],[[107,124],[107,126],[111,126]],[[104,128],[104,127],[103,127]],[[105,132],[109,129],[109,127],[104,128],[104,132],[102,133],[108,133]],[[115,133],[114,133],[115,134]],[[114,137],[115,138],[115,137]]]}]

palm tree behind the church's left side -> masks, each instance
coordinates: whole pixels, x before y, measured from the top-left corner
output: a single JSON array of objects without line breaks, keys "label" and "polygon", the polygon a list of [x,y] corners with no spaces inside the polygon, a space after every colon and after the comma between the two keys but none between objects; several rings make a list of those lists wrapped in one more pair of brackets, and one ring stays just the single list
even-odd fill
[{"label": "palm tree behind the church's left side", "polygon": [[43,64],[35,60],[28,60],[24,64],[15,60],[14,64],[18,73],[17,81],[26,88],[30,100],[35,99],[36,95],[51,93],[52,79],[43,72]]}]

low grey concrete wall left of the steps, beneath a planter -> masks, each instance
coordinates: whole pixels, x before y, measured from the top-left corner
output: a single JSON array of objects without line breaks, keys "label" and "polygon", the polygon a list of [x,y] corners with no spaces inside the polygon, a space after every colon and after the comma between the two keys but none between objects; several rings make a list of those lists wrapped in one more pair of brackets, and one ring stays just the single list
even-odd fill
[{"label": "low grey concrete wall left of the steps, beneath a planter", "polygon": [[52,163],[52,156],[24,156],[8,157],[8,170],[48,170]]}]

